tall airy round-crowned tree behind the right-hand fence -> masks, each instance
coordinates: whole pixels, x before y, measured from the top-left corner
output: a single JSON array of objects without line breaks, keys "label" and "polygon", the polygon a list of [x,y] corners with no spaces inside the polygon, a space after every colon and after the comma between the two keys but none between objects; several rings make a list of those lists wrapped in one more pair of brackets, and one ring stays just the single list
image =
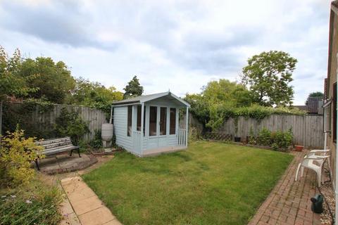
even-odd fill
[{"label": "tall airy round-crowned tree behind the right-hand fence", "polygon": [[283,51],[262,52],[249,58],[243,68],[242,84],[251,91],[253,101],[260,105],[292,105],[294,97],[292,72],[297,60]]}]

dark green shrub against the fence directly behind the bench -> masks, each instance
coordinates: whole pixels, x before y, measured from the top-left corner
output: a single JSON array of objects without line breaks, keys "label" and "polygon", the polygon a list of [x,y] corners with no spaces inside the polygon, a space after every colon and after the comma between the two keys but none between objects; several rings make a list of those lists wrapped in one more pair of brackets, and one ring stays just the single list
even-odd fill
[{"label": "dark green shrub against the fence directly behind the bench", "polygon": [[77,146],[84,134],[89,132],[87,122],[84,122],[80,115],[74,110],[61,109],[61,114],[56,118],[55,124],[58,136],[69,136],[73,145]]}]

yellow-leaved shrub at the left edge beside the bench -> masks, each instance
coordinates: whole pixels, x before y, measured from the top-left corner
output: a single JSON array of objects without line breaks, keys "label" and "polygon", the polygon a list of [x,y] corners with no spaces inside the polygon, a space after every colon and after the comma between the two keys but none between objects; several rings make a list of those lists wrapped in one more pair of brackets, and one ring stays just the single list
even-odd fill
[{"label": "yellow-leaved shrub at the left edge beside the bench", "polygon": [[7,186],[29,183],[35,176],[30,162],[39,156],[41,150],[43,148],[35,144],[35,138],[25,139],[23,130],[17,128],[13,133],[8,132],[0,148],[0,183]]}]

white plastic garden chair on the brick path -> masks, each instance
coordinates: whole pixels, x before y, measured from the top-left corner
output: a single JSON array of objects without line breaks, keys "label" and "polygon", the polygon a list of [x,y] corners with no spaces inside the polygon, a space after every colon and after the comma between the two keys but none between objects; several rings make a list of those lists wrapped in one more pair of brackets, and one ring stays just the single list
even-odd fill
[{"label": "white plastic garden chair on the brick path", "polygon": [[[312,169],[317,174],[318,187],[320,187],[320,183],[322,181],[323,165],[324,165],[325,160],[327,158],[330,158],[330,155],[315,155],[315,153],[319,153],[319,150],[313,151],[312,153],[311,152],[308,153],[308,155],[306,155],[303,158],[301,163],[299,163],[294,181],[297,181],[299,169],[301,169],[301,177],[302,177],[304,173],[304,168],[308,168],[308,169]],[[326,153],[327,151],[325,152],[325,154]],[[315,163],[313,162],[317,162],[318,165],[315,165]]]}]

